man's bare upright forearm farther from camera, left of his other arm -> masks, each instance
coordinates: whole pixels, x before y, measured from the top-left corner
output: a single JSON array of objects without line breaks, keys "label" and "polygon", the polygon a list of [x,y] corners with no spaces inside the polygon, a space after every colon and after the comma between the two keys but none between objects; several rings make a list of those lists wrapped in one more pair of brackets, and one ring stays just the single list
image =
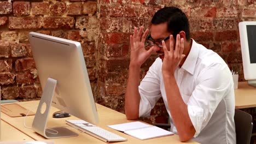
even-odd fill
[{"label": "man's bare upright forearm farther from camera, left of his other arm", "polygon": [[127,119],[138,119],[139,116],[139,71],[140,67],[130,65],[125,93],[125,115]]}]

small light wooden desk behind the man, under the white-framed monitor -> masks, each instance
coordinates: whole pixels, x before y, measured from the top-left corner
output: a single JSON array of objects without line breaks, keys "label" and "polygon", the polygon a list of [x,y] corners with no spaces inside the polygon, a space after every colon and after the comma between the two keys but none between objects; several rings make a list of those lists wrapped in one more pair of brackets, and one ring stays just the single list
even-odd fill
[{"label": "small light wooden desk behind the man, under the white-framed monitor", "polygon": [[238,82],[235,89],[236,109],[256,107],[256,87],[249,86],[247,82]]}]

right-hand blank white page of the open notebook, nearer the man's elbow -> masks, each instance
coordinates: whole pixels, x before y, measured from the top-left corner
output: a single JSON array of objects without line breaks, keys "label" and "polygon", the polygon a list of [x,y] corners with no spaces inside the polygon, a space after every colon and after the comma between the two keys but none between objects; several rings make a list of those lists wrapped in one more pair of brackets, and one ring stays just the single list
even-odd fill
[{"label": "right-hand blank white page of the open notebook, nearer the man's elbow", "polygon": [[141,128],[141,129],[131,129],[124,132],[130,136],[136,137],[140,140],[153,139],[156,137],[173,135],[171,131],[167,131],[155,126]]}]

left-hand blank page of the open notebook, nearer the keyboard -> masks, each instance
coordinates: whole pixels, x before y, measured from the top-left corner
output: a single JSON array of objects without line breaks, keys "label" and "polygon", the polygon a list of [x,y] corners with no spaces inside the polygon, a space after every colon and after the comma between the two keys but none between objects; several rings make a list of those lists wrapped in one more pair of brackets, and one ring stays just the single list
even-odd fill
[{"label": "left-hand blank page of the open notebook, nearer the keyboard", "polygon": [[109,128],[112,128],[118,131],[123,131],[123,132],[129,129],[137,129],[137,128],[144,128],[144,127],[150,127],[150,126],[151,125],[145,124],[142,122],[130,122],[130,123],[108,125]]}]

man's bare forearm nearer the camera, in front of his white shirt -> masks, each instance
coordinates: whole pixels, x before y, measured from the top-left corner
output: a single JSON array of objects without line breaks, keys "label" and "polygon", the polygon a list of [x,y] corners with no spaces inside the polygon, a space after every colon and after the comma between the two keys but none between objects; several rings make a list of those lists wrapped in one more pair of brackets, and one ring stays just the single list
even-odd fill
[{"label": "man's bare forearm nearer the camera, in front of his white shirt", "polygon": [[181,97],[174,76],[164,76],[164,82],[168,106],[178,130],[179,139],[188,141],[195,134],[195,128],[188,114],[188,107]]}]

